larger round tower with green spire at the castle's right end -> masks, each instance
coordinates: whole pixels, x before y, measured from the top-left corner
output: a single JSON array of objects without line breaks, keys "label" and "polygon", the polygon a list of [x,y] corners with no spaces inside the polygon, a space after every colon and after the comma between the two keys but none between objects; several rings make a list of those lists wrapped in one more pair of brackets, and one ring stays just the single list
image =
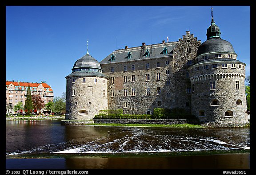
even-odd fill
[{"label": "larger round tower with green spire at the castle's right end", "polygon": [[220,38],[213,20],[207,40],[197,50],[196,63],[189,68],[192,84],[192,114],[201,123],[248,123],[245,96],[245,63],[238,61],[231,43]]}]

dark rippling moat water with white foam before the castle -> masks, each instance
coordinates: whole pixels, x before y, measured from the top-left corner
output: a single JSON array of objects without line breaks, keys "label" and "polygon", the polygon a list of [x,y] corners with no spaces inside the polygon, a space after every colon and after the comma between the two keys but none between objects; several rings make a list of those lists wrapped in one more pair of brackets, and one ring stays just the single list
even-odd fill
[{"label": "dark rippling moat water with white foam before the castle", "polygon": [[250,169],[250,127],[6,121],[6,169]]}]

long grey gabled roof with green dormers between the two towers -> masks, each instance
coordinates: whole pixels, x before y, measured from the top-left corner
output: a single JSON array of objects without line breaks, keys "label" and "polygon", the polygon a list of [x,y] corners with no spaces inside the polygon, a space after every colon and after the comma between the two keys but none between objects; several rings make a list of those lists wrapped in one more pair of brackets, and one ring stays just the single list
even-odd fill
[{"label": "long grey gabled roof with green dormers between the two towers", "polygon": [[[140,47],[131,47],[125,49],[119,49],[113,51],[106,58],[104,58],[100,64],[116,63],[116,62],[127,62],[127,61],[136,61],[145,58],[160,58],[160,57],[169,57],[172,56],[173,48],[176,47],[178,42],[170,43],[160,43],[160,44],[151,44]],[[163,54],[164,47],[168,50],[168,54]],[[146,51],[149,51],[149,56],[146,56]],[[128,58],[128,53],[132,54],[131,58]],[[112,54],[115,56],[114,59],[111,59]]]}]

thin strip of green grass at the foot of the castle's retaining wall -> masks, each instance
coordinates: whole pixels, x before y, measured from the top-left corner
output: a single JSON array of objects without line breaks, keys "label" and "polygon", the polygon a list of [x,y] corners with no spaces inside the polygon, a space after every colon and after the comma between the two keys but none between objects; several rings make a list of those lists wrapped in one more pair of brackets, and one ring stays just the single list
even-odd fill
[{"label": "thin strip of green grass at the foot of the castle's retaining wall", "polygon": [[173,128],[204,128],[199,124],[117,124],[117,123],[94,123],[85,125],[98,126],[130,126],[130,127],[173,127]]}]

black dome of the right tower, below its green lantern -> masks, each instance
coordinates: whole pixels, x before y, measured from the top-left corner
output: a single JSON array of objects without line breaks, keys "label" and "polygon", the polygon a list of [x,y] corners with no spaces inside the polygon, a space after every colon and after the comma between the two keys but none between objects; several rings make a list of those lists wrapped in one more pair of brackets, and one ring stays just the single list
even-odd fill
[{"label": "black dome of the right tower, below its green lantern", "polygon": [[210,54],[213,52],[225,52],[236,54],[231,43],[220,38],[211,38],[202,43],[197,50],[197,55]]}]

